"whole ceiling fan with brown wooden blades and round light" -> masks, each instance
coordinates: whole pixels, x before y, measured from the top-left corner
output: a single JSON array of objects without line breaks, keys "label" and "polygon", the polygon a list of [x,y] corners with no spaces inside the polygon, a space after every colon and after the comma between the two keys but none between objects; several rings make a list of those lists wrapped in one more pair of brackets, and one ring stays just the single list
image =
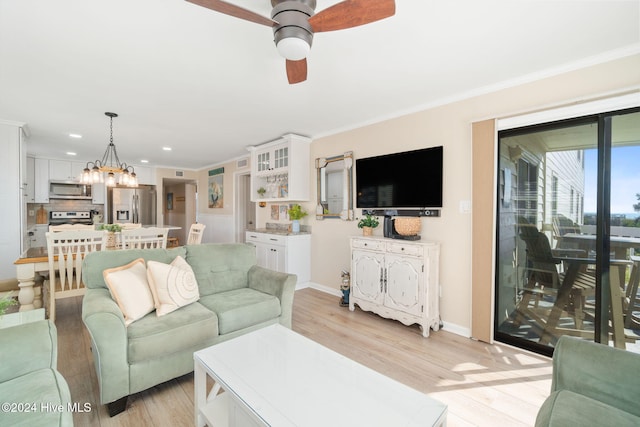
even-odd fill
[{"label": "whole ceiling fan with brown wooden blades and round light", "polygon": [[187,0],[216,12],[273,28],[278,52],[287,60],[290,84],[307,79],[313,35],[344,30],[393,16],[394,0],[345,0],[315,13],[316,0],[271,0],[271,18],[222,0]]}]

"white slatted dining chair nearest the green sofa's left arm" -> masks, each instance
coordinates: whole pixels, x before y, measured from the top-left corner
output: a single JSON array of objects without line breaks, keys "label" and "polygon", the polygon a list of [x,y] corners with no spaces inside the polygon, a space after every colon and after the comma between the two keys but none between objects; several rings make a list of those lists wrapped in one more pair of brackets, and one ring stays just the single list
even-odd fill
[{"label": "white slatted dining chair nearest the green sofa's left arm", "polygon": [[49,319],[56,320],[56,300],[84,295],[82,261],[89,252],[106,247],[106,231],[67,230],[46,233],[49,277],[45,281],[45,301]]}]

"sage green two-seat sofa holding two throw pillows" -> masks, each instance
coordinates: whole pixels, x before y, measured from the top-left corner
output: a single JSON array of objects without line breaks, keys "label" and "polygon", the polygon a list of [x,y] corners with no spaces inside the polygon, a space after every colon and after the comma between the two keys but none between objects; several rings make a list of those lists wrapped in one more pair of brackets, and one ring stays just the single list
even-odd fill
[{"label": "sage green two-seat sofa holding two throw pillows", "polygon": [[[193,269],[199,301],[125,326],[102,272],[137,258],[171,263],[178,255]],[[92,252],[82,277],[82,320],[91,335],[100,401],[111,416],[126,409],[130,394],[192,372],[197,350],[273,323],[291,327],[296,276],[257,266],[251,245]]]}]

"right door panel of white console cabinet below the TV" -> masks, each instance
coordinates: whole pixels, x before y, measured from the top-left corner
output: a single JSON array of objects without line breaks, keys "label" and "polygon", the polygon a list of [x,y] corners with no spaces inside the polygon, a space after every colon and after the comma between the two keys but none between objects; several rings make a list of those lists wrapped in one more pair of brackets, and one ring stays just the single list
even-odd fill
[{"label": "right door panel of white console cabinet below the TV", "polygon": [[420,315],[423,265],[419,258],[387,254],[385,306]]}]

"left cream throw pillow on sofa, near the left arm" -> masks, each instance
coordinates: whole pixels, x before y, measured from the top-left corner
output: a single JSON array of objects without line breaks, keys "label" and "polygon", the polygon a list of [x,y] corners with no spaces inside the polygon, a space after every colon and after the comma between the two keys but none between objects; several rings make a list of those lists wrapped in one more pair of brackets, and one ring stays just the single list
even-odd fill
[{"label": "left cream throw pillow on sofa, near the left arm", "polygon": [[155,308],[143,258],[122,267],[104,270],[102,275],[124,314],[126,326],[151,313]]}]

